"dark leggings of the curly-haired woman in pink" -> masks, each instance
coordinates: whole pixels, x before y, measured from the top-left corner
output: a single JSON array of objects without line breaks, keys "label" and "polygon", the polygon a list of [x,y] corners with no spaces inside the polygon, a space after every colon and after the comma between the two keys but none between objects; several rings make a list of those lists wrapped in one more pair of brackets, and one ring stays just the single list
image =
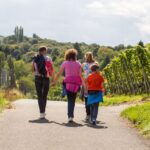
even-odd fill
[{"label": "dark leggings of the curly-haired woman in pink", "polygon": [[68,118],[74,118],[74,108],[75,108],[75,100],[77,97],[77,93],[72,93],[67,91],[68,98]]}]

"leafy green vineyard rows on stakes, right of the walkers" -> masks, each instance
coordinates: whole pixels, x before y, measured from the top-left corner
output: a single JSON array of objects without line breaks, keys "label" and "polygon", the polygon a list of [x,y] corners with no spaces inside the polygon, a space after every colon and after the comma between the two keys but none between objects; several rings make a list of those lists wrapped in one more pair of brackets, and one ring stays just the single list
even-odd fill
[{"label": "leafy green vineyard rows on stakes, right of the walkers", "polygon": [[150,93],[149,50],[139,45],[127,49],[105,67],[103,74],[110,93]]}]

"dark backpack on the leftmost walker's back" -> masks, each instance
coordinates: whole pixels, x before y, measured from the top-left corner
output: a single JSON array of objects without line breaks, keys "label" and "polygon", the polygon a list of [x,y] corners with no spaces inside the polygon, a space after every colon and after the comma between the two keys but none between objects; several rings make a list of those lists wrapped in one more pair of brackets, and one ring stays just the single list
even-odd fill
[{"label": "dark backpack on the leftmost walker's back", "polygon": [[37,55],[34,58],[34,62],[37,64],[38,72],[42,76],[46,77],[47,71],[46,71],[46,63],[45,63],[45,58],[43,55]]}]

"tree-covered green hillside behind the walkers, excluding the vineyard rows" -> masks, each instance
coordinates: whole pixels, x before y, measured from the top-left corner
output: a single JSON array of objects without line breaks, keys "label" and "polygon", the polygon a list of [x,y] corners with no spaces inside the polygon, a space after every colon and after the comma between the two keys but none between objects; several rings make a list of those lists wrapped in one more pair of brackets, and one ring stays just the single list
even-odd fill
[{"label": "tree-covered green hillside behind the walkers, excluding the vineyard rows", "polygon": [[[92,51],[94,58],[100,64],[101,71],[103,71],[103,69],[106,68],[108,64],[111,64],[112,59],[120,57],[120,55],[124,53],[126,49],[132,48],[134,49],[133,46],[129,45],[126,47],[123,44],[111,47],[111,46],[101,46],[95,43],[94,44],[70,43],[70,42],[62,43],[51,39],[46,38],[42,39],[36,34],[33,34],[32,37],[27,37],[25,36],[22,27],[16,27],[13,35],[7,37],[1,36],[0,39],[1,39],[0,86],[11,88],[17,87],[29,97],[34,97],[35,95],[34,76],[31,72],[31,61],[32,57],[37,54],[40,46],[48,47],[48,54],[50,55],[50,57],[54,62],[56,71],[58,70],[58,67],[64,60],[65,50],[69,48],[77,49],[78,59],[80,60],[81,63],[84,61],[85,53],[87,51]],[[147,44],[146,47],[149,48],[150,45]],[[107,81],[109,81],[108,77]],[[142,77],[140,81],[142,81]],[[106,82],[107,88],[109,87],[107,85],[108,83]],[[125,82],[125,84],[128,83]],[[112,89],[109,87],[108,91],[111,92],[111,90]],[[112,91],[114,90],[115,89],[113,89]],[[53,97],[55,99],[59,99],[60,95],[61,95],[61,83],[58,83],[58,86],[56,86],[51,90],[49,96],[50,98]]]}]

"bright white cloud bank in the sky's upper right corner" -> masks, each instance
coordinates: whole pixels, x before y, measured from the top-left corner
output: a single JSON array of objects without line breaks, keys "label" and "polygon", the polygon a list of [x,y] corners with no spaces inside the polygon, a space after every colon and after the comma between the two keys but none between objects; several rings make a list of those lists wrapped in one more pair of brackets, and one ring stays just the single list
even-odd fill
[{"label": "bright white cloud bank in the sky's upper right corner", "polygon": [[150,1],[143,0],[99,0],[86,6],[94,17],[118,16],[132,18],[142,37],[150,37]]}]

